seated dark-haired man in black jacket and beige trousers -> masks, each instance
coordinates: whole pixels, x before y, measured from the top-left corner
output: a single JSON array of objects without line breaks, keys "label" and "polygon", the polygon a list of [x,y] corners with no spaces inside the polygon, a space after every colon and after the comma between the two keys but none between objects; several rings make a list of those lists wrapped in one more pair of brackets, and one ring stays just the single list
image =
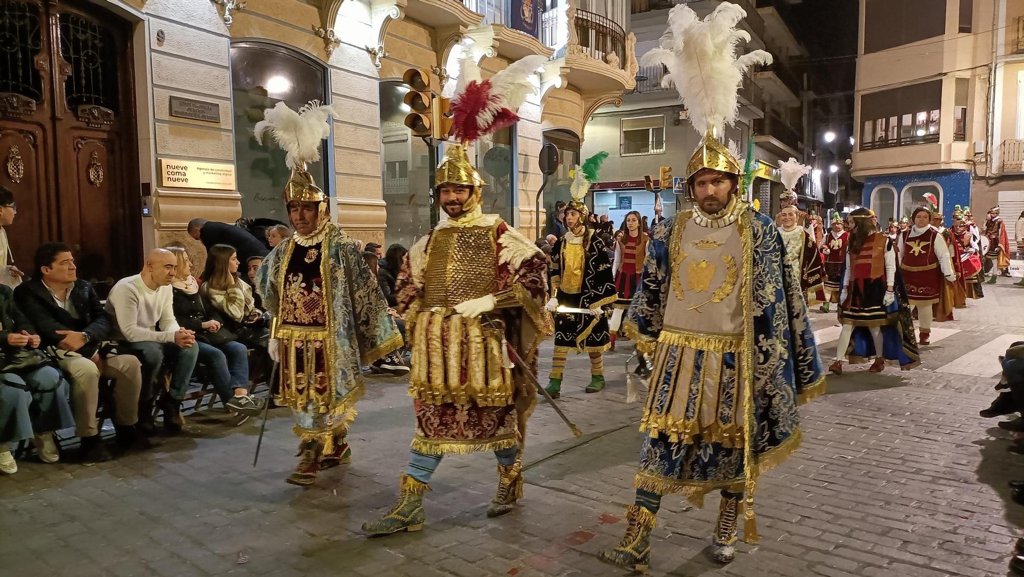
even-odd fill
[{"label": "seated dark-haired man in black jacket and beige trousers", "polygon": [[14,291],[18,308],[39,329],[44,347],[52,347],[57,365],[71,380],[75,433],[82,439],[82,460],[101,462],[111,454],[103,447],[96,423],[99,376],[114,380],[114,429],[123,449],[147,448],[136,428],[141,365],[109,345],[111,317],[92,284],[78,278],[71,248],[44,242],[36,250],[34,278]]}]

